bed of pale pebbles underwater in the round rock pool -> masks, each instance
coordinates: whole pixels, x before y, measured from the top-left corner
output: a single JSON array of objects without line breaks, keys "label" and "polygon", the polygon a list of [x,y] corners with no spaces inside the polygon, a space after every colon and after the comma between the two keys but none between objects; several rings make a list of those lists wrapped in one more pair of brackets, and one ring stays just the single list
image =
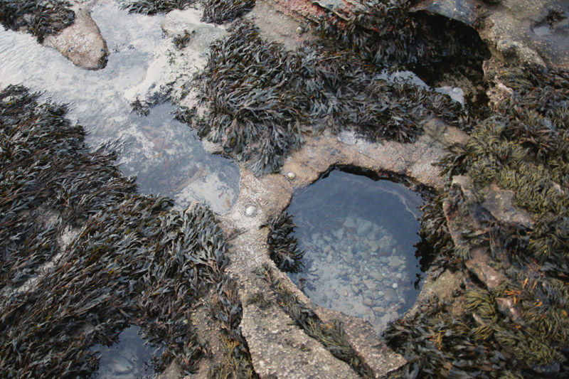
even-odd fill
[{"label": "bed of pale pebbles underwater in the round rock pool", "polygon": [[321,292],[314,297],[321,297],[321,306],[346,313],[357,310],[374,326],[383,327],[400,317],[399,309],[406,309],[401,298],[408,289],[407,260],[395,247],[396,240],[371,221],[349,216],[340,224],[308,234],[312,242],[305,248],[314,254],[308,280],[333,289],[328,297]]}]

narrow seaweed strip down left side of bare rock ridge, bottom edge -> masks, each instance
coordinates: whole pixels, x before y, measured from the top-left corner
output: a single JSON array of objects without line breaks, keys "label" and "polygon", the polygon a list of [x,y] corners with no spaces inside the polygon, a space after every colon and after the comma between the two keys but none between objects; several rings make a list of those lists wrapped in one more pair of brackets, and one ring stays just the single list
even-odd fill
[{"label": "narrow seaweed strip down left side of bare rock ridge, bottom edge", "polygon": [[237,284],[233,279],[225,277],[218,284],[211,311],[221,325],[225,362],[211,368],[208,378],[259,378],[253,368],[249,346],[241,333],[243,306],[238,296]]}]

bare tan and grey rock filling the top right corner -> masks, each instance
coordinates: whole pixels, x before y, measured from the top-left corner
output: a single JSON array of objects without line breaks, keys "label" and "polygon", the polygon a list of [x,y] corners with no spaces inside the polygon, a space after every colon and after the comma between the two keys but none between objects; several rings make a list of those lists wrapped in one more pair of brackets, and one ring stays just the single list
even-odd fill
[{"label": "bare tan and grey rock filling the top right corner", "polygon": [[567,2],[424,0],[413,10],[440,14],[477,28],[494,58],[505,63],[551,68],[569,64]]}]

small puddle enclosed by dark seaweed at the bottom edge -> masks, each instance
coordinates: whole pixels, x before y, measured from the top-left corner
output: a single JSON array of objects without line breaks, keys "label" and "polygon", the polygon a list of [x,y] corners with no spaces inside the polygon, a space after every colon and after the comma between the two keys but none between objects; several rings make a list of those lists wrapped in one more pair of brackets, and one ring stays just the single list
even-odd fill
[{"label": "small puddle enclosed by dark seaweed at the bottom edge", "polygon": [[90,351],[97,352],[99,368],[92,379],[139,379],[154,377],[152,353],[155,348],[144,344],[138,326],[129,326],[119,334],[112,346],[95,345]]}]

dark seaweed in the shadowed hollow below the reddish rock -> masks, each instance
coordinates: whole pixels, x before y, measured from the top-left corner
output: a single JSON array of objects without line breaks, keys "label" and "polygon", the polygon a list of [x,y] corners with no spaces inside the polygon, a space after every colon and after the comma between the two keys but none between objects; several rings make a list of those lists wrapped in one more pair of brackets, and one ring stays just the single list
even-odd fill
[{"label": "dark seaweed in the shadowed hollow below the reddish rock", "polygon": [[382,68],[405,68],[417,73],[427,84],[466,78],[473,85],[467,91],[469,111],[481,112],[485,85],[482,63],[489,49],[477,31],[459,21],[422,11],[411,11],[414,1],[352,1],[349,15],[334,12],[319,23],[322,38],[330,38],[351,49],[363,60]]}]

